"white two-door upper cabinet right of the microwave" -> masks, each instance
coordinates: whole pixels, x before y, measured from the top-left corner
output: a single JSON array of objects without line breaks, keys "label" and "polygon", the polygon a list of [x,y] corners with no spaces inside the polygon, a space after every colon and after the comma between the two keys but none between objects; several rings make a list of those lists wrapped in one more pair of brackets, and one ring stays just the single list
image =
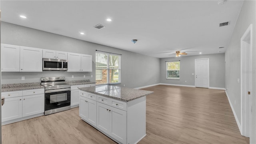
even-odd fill
[{"label": "white two-door upper cabinet right of the microwave", "polygon": [[92,56],[69,52],[68,72],[92,72]]}]

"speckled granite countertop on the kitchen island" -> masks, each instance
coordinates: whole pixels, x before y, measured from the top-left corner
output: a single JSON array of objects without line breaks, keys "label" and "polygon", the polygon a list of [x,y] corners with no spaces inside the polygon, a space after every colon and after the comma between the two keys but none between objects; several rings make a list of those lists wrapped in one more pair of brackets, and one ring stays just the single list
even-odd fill
[{"label": "speckled granite countertop on the kitchen island", "polygon": [[109,85],[100,85],[100,86],[91,86],[85,88],[78,88],[79,90],[98,94],[101,96],[106,96],[116,100],[121,100],[124,102],[129,102],[137,98],[152,94],[154,92],[147,90],[137,90],[133,88],[123,88],[119,86],[109,86]]}]

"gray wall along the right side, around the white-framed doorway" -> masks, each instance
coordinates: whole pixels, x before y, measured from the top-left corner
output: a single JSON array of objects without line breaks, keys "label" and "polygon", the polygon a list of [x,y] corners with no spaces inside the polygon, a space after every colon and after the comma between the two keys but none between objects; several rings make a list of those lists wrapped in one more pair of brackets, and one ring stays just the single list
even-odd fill
[{"label": "gray wall along the right side, around the white-framed doorway", "polygon": [[[252,136],[250,137],[250,144],[256,144],[256,1],[245,0],[241,12],[238,16],[236,26],[234,28],[230,44],[226,50],[226,93],[230,98],[230,102],[234,108],[236,116],[241,124],[241,87],[237,82],[240,78],[240,39],[248,26],[253,24],[252,34]],[[236,101],[236,103],[235,103]]]}]

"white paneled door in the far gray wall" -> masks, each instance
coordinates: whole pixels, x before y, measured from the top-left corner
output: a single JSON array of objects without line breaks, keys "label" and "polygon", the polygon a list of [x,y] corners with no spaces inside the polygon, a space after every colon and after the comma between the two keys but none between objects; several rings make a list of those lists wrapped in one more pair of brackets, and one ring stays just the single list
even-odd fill
[{"label": "white paneled door in the far gray wall", "polygon": [[196,59],[196,87],[209,88],[209,58]]}]

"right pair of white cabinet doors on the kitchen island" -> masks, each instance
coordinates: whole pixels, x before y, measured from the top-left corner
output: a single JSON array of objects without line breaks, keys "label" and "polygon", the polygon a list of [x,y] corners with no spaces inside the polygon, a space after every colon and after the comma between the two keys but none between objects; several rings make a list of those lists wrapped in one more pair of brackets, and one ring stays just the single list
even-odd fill
[{"label": "right pair of white cabinet doors on the kitchen island", "polygon": [[126,144],[126,111],[97,103],[97,128]]}]

